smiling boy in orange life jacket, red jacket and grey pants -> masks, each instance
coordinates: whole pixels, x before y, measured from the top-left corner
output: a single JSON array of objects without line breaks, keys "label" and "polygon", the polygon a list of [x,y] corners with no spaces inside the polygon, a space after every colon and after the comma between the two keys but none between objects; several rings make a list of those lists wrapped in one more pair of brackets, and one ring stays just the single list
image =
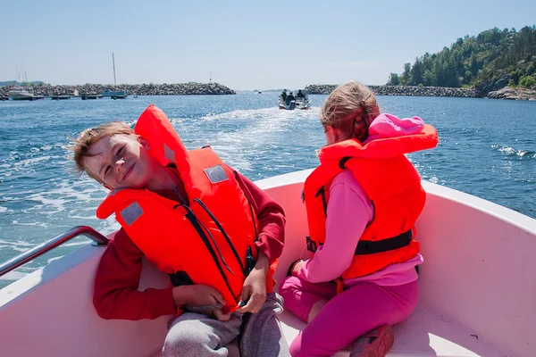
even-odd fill
[{"label": "smiling boy in orange life jacket, red jacket and grey pants", "polygon": [[[284,241],[278,203],[209,146],[187,151],[154,105],[134,130],[111,122],[73,144],[77,169],[110,190],[96,216],[115,213],[121,224],[96,271],[100,317],[175,315],[163,356],[227,355],[238,337],[243,356],[289,355],[273,293]],[[170,287],[138,290],[144,256]]]}]

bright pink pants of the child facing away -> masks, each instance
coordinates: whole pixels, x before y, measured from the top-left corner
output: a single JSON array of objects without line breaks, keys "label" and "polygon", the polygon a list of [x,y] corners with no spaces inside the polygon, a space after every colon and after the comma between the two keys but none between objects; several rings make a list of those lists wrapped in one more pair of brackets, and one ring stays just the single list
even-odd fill
[{"label": "bright pink pants of the child facing away", "polygon": [[292,342],[290,355],[331,356],[373,328],[406,320],[419,300],[419,285],[417,281],[400,286],[362,282],[337,295],[334,283],[289,277],[281,282],[280,295],[285,309],[304,321],[314,303],[329,300]]}]

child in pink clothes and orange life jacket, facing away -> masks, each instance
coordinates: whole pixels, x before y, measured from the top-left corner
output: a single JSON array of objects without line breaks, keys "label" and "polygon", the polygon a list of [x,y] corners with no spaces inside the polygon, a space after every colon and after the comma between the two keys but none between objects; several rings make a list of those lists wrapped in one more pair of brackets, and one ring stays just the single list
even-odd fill
[{"label": "child in pink clothes and orange life jacket, facing away", "polygon": [[331,93],[320,121],[327,145],[303,193],[314,257],[291,264],[280,287],[285,308],[308,322],[290,354],[331,356],[351,344],[353,357],[384,356],[389,326],[415,310],[423,263],[414,225],[426,194],[404,154],[437,145],[437,131],[380,114],[356,82]]}]

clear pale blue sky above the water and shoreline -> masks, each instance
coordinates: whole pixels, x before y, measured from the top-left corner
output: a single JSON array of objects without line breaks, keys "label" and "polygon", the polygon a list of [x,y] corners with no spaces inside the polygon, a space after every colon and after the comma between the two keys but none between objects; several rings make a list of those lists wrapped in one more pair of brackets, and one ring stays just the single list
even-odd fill
[{"label": "clear pale blue sky above the water and shoreline", "polygon": [[536,23],[536,1],[0,1],[0,81],[385,84],[458,37]]}]

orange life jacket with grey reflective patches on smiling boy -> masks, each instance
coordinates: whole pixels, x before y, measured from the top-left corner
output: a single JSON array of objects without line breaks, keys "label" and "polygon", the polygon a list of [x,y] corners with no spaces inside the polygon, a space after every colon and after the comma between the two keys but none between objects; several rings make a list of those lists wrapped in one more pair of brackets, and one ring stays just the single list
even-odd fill
[{"label": "orange life jacket with grey reflective patches on smiling boy", "polygon": [[[258,221],[235,173],[210,147],[187,151],[153,104],[134,131],[147,140],[148,153],[158,162],[176,165],[188,203],[148,189],[118,189],[105,198],[96,216],[105,219],[115,213],[149,262],[168,274],[186,273],[194,284],[213,286],[224,296],[226,310],[236,309],[247,270],[255,264]],[[272,291],[272,274],[266,281]]]}]

